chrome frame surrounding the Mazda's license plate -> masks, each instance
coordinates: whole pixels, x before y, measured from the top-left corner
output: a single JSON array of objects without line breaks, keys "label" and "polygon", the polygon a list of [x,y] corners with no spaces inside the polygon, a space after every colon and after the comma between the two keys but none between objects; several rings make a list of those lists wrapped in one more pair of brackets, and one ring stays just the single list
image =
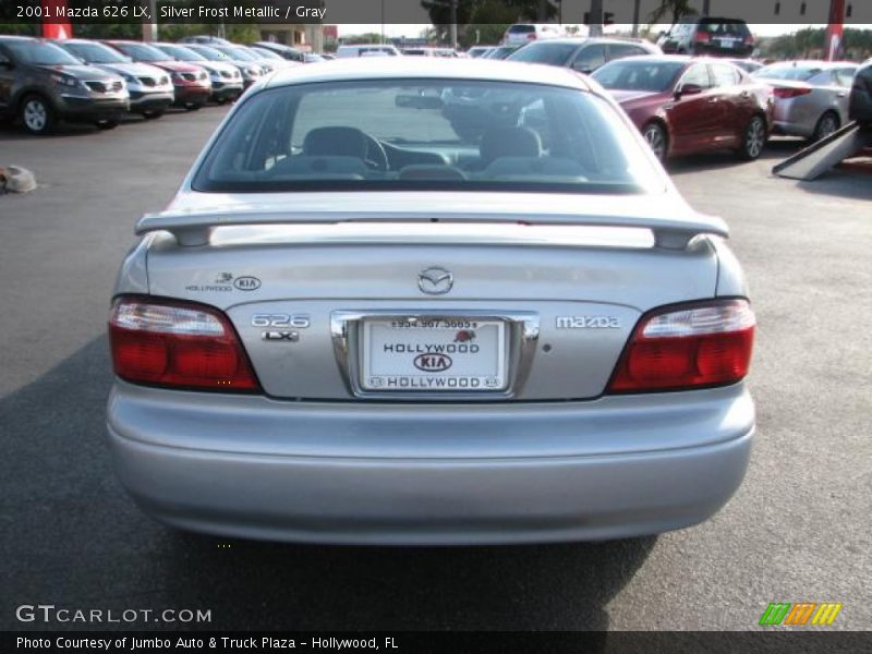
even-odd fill
[{"label": "chrome frame surrounding the Mazda's license plate", "polygon": [[[360,384],[360,359],[358,352],[363,338],[360,328],[364,318],[416,318],[416,319],[470,319],[502,320],[508,330],[508,386],[505,390],[480,391],[380,391],[364,390]],[[405,401],[456,401],[456,400],[510,400],[521,392],[536,353],[540,335],[540,315],[535,312],[492,312],[449,310],[383,310],[383,311],[334,311],[330,312],[330,336],[336,363],[349,392],[363,399]]]}]

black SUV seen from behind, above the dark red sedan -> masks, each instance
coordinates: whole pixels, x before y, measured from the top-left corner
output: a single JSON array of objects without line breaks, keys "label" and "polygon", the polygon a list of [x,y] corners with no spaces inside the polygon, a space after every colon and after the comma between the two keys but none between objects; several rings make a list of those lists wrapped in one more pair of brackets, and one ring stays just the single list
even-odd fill
[{"label": "black SUV seen from behind, above the dark red sedan", "polygon": [[737,19],[700,19],[693,23],[676,23],[657,45],[667,55],[712,55],[744,59],[754,51],[754,37],[744,21]]}]

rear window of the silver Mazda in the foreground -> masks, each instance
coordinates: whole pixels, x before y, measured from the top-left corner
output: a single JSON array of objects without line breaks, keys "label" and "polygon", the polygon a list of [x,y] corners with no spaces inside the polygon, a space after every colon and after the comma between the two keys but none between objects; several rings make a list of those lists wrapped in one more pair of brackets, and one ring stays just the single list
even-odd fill
[{"label": "rear window of the silver Mazda in the foreground", "polygon": [[422,80],[255,94],[223,126],[193,186],[632,193],[663,182],[618,112],[593,94]]}]

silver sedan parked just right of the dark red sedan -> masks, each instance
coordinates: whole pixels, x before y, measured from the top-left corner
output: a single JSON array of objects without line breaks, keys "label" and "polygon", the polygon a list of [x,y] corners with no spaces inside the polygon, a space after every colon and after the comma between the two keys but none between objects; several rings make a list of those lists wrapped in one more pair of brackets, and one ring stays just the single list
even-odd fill
[{"label": "silver sedan parked just right of the dark red sedan", "polygon": [[754,77],[775,92],[775,133],[814,142],[846,124],[858,68],[849,61],[785,61],[760,69]]}]

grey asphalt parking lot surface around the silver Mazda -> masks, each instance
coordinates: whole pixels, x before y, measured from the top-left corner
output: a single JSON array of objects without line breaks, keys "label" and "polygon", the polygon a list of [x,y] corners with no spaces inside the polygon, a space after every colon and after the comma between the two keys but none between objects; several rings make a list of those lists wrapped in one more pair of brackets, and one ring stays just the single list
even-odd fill
[{"label": "grey asphalt parking lot surface around the silver Mazda", "polygon": [[[770,602],[872,627],[872,177],[774,179],[797,149],[673,162],[724,217],[759,319],[759,431],[713,520],[659,537],[481,548],[317,547],[180,534],[143,516],[105,443],[105,322],[134,220],[171,198],[225,114],[36,138],[0,125],[0,628],[21,604],[209,609],[217,629],[753,629]],[[140,628],[178,625],[134,623]],[[109,627],[112,627],[111,625]]]}]

